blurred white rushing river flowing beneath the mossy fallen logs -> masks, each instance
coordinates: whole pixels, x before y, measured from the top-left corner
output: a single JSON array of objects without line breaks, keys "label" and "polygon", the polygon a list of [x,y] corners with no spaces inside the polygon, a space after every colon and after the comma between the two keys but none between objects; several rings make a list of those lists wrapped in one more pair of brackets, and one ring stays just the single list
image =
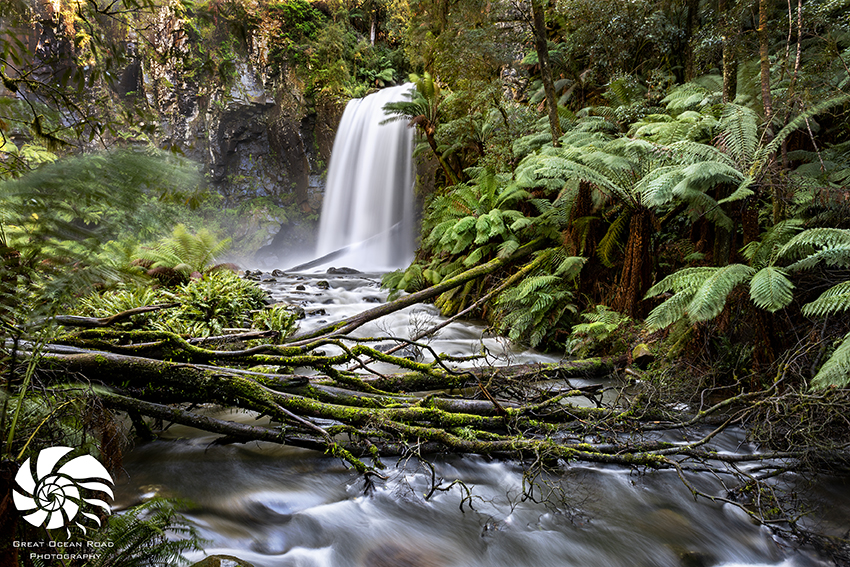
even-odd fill
[{"label": "blurred white rushing river flowing beneath the mossy fallen logs", "polygon": [[[384,301],[378,281],[378,276],[287,276],[265,285],[275,299],[304,307],[301,328],[307,330]],[[359,334],[408,335],[437,321],[433,307],[419,305]],[[431,346],[458,355],[486,348],[491,361],[502,363],[554,360],[515,351],[482,332],[476,325],[452,324]],[[254,423],[249,415],[227,417]],[[753,449],[741,432],[724,435],[719,450]],[[266,443],[216,446],[214,436],[178,426],[167,436],[126,456],[116,506],[152,495],[186,499],[195,506],[185,515],[209,541],[207,553],[236,556],[255,567],[832,564],[794,550],[733,506],[695,501],[674,472],[564,467],[557,476],[536,479],[533,501],[522,497],[523,469],[515,463],[441,457],[432,462],[445,490],[426,499],[432,471],[413,458],[385,460],[388,479],[367,487],[341,461],[317,452]],[[448,488],[454,480],[463,484]],[[706,493],[724,492],[723,478],[692,481]],[[819,487],[824,499],[843,502],[816,510],[834,530],[847,523],[847,488]]]}]

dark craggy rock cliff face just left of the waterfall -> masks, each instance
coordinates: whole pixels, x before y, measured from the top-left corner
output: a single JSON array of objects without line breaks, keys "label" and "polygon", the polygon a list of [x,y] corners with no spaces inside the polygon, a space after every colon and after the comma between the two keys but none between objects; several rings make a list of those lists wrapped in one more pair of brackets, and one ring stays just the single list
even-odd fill
[{"label": "dark craggy rock cliff face just left of the waterfall", "polygon": [[269,197],[318,212],[319,179],[343,105],[308,100],[291,73],[271,65],[262,26],[245,42],[247,52],[235,55],[228,76],[195,79],[186,72],[195,48],[183,26],[163,11],[156,41],[137,62],[140,86],[159,120],[157,143],[202,163],[226,205]]}]

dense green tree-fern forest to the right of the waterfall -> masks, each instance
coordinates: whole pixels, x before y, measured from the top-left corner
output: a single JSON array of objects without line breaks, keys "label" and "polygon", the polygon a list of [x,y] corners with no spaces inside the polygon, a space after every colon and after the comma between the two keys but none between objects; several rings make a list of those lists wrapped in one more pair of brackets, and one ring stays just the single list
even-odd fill
[{"label": "dense green tree-fern forest to the right of the waterfall", "polygon": [[[535,269],[483,313],[515,340],[587,353],[638,332],[727,385],[846,384],[846,6],[558,2],[539,26],[534,5],[438,24],[413,10],[426,73],[390,110],[445,188],[387,283],[534,241]],[[500,277],[437,305],[456,313]]]}]

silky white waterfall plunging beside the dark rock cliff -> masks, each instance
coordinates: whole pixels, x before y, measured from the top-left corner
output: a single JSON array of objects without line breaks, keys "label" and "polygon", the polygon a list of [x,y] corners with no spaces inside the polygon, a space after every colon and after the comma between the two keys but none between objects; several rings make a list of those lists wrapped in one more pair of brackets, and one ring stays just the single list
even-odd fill
[{"label": "silky white waterfall plunging beside the dark rock cliff", "polygon": [[340,264],[380,270],[413,257],[413,130],[381,124],[388,102],[409,100],[411,84],[383,89],[345,107],[331,153],[317,254],[347,249]]}]

